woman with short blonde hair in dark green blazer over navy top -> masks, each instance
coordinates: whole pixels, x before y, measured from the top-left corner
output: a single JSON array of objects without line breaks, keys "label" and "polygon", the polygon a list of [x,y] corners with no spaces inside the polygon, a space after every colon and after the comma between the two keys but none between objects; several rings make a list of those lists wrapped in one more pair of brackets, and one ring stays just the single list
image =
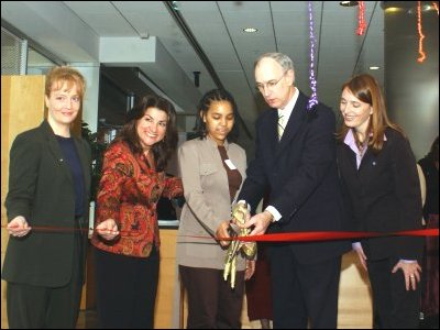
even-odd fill
[{"label": "woman with short blonde hair in dark green blazer over navy top", "polygon": [[87,142],[73,138],[70,125],[85,87],[77,70],[52,69],[45,87],[47,120],[12,144],[6,199],[11,238],[2,272],[10,328],[76,326],[91,161]]}]

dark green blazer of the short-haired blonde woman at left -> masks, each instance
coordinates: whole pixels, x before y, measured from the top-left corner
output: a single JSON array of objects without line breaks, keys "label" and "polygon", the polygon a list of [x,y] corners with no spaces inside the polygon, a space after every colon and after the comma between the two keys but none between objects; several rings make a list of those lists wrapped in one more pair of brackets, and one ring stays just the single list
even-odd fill
[{"label": "dark green blazer of the short-haired blonde woman at left", "polygon": [[[85,210],[90,187],[90,148],[86,141],[75,144],[82,165]],[[75,227],[74,178],[51,125],[21,133],[11,147],[8,220],[23,216],[31,227]],[[88,212],[81,224],[88,228]],[[87,238],[87,234],[84,235]],[[86,242],[87,239],[84,240]],[[58,287],[72,277],[74,233],[32,231],[24,238],[10,237],[2,278],[20,284]]]}]

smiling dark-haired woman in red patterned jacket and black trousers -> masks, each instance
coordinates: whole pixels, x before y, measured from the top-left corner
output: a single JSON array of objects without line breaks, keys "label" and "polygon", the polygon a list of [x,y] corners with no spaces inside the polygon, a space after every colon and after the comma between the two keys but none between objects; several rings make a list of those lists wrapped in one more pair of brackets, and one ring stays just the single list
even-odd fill
[{"label": "smiling dark-haired woman in red patterned jacket and black trousers", "polygon": [[105,154],[91,240],[103,328],[153,328],[161,244],[156,204],[161,196],[183,195],[180,179],[164,172],[176,145],[173,105],[146,96]]}]

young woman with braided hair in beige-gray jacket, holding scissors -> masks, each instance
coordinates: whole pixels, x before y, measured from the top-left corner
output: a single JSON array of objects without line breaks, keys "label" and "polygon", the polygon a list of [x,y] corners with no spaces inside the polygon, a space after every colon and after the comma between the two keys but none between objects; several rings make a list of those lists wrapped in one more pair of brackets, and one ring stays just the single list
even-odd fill
[{"label": "young woman with braided hair in beige-gray jacket, holding scissors", "polygon": [[177,263],[188,294],[188,329],[240,329],[244,280],[254,262],[239,255],[237,283],[223,279],[227,249],[217,235],[227,235],[231,204],[245,178],[246,155],[234,138],[237,106],[221,89],[201,99],[196,130],[199,139],[178,151],[186,204],[178,230]]}]

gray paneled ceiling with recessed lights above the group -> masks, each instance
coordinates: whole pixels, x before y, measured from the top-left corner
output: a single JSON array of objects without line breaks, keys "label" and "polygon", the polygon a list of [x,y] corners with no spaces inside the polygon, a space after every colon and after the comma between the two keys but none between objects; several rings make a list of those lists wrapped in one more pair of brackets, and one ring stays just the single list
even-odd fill
[{"label": "gray paneled ceiling with recessed lights above the group", "polygon": [[[337,109],[340,87],[353,74],[376,65],[381,69],[370,73],[383,84],[384,13],[378,1],[365,1],[367,28],[356,35],[358,7],[311,3],[318,99]],[[249,141],[255,138],[254,122],[264,109],[254,88],[253,64],[258,55],[289,55],[298,88],[311,94],[307,1],[1,1],[1,15],[69,63],[102,63],[102,40],[147,42],[155,36],[170,64],[158,73],[154,63],[143,66],[135,61],[131,66],[152,77],[185,113],[195,113],[202,94],[222,85],[237,99]],[[258,31],[243,32],[251,26]],[[123,66],[130,66],[130,61]],[[176,80],[168,70],[182,70],[185,78]],[[199,87],[194,86],[194,72],[200,72]]]}]

